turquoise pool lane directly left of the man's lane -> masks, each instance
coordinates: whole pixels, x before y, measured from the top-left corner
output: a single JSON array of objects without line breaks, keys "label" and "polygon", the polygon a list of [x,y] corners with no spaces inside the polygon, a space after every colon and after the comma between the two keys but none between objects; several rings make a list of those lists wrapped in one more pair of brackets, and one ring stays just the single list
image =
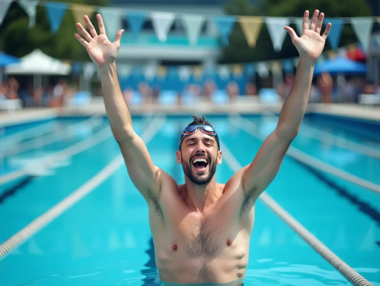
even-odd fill
[{"label": "turquoise pool lane directly left of the man's lane", "polygon": [[[136,132],[140,132],[144,124],[136,119],[135,125]],[[108,123],[104,123],[103,128],[109,129]],[[27,183],[22,184],[28,178],[23,177],[0,186],[0,194],[3,196],[13,190],[0,204],[0,241],[8,239],[79,188],[119,153],[119,146],[109,132],[104,141],[50,170],[52,174],[31,177]]]}]

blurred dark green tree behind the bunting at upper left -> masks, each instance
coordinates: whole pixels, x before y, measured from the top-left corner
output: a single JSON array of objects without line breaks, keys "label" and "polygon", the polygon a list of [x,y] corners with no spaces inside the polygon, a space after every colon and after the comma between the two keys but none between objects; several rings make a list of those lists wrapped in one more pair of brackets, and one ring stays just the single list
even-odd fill
[{"label": "blurred dark green tree behind the bunting at upper left", "polygon": [[[65,0],[61,2],[106,6],[108,0]],[[91,17],[96,21],[95,13]],[[50,30],[44,6],[37,6],[36,25],[28,28],[29,17],[16,2],[13,2],[0,27],[0,50],[22,57],[34,49],[41,49],[47,55],[68,60],[90,60],[86,49],[76,40],[75,19],[70,6],[63,16],[56,34]],[[96,29],[97,25],[94,25]]]}]

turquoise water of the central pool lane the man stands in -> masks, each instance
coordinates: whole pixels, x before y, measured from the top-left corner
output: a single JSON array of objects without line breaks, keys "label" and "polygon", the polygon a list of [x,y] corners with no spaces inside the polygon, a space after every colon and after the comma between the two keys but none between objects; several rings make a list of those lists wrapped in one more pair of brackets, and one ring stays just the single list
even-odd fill
[{"label": "turquoise water of the central pool lane the man stands in", "polygon": [[[214,122],[230,127],[226,119]],[[175,163],[175,153],[179,138],[176,128],[183,125],[173,119],[165,126],[147,147],[154,163],[181,182],[183,172]],[[233,136],[235,143],[241,142],[237,134],[240,133]],[[232,175],[226,163],[218,165],[218,182],[225,183]],[[21,263],[23,269],[18,272]],[[31,283],[39,278],[41,286],[147,285],[154,281],[156,284],[149,285],[157,285],[146,202],[123,166],[0,264],[0,281],[5,286]],[[258,281],[349,285],[261,202],[256,205],[249,268],[247,281],[255,283],[247,285]]]}]

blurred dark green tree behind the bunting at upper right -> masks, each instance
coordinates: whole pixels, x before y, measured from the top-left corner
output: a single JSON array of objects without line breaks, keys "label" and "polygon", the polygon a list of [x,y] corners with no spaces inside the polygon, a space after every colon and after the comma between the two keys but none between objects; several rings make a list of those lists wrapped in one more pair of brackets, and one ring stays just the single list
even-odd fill
[{"label": "blurred dark green tree behind the bunting at upper right", "polygon": [[[315,9],[325,13],[325,17],[371,16],[366,0],[345,0],[344,5],[338,1],[331,0],[261,0],[256,6],[253,6],[249,0],[231,0],[225,6],[225,12],[229,15],[272,17],[302,17],[305,10],[309,10],[310,14],[312,14]],[[290,26],[298,33],[294,24]],[[351,25],[345,23],[339,46],[345,46],[357,41]],[[331,47],[327,41],[325,51],[329,49]],[[297,50],[288,35],[285,38],[282,50],[275,52],[265,24],[261,28],[256,47],[250,48],[240,25],[236,23],[230,36],[229,46],[223,49],[223,62],[253,62],[296,57],[297,55]]]}]

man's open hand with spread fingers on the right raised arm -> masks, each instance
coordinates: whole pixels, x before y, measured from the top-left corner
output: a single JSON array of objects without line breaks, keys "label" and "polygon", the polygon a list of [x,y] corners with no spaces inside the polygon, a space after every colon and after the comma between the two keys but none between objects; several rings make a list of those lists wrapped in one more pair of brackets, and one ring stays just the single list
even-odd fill
[{"label": "man's open hand with spread fingers on the right raised arm", "polygon": [[[319,14],[319,11],[315,10],[313,17],[310,21],[309,26],[309,11],[305,11],[304,19],[302,21],[302,35],[300,37],[297,36],[296,32],[288,26],[284,27],[285,30],[288,31],[291,41],[294,46],[297,48],[297,51],[300,57],[306,57],[316,62],[318,57],[321,55],[323,48],[325,47],[326,38],[331,29],[331,23],[326,25],[326,30],[323,35],[320,35],[323,18],[325,15],[323,13]],[[317,23],[318,19],[318,23]]]}]

